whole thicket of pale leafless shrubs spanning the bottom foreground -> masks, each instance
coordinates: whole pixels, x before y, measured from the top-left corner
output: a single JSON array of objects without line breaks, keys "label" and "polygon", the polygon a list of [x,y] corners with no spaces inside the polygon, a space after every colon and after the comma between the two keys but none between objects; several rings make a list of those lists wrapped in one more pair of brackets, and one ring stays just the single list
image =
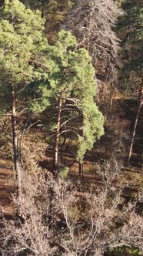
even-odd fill
[{"label": "whole thicket of pale leafless shrubs spanning the bottom foreground", "polygon": [[[120,164],[111,164],[105,164],[104,185],[96,191],[79,193],[70,181],[48,173],[46,181],[41,177],[14,199],[19,217],[17,222],[5,221],[2,256],[101,256],[123,245],[141,250],[143,219],[135,213],[135,204],[124,206],[120,191],[110,193],[120,172]],[[29,187],[31,180],[27,183]]]}]

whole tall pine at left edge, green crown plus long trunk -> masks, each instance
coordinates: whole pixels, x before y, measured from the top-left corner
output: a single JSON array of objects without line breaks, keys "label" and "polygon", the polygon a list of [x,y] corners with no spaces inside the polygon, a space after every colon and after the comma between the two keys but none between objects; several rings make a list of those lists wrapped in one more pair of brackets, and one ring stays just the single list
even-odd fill
[{"label": "whole tall pine at left edge, green crown plus long trunk", "polygon": [[[44,20],[40,12],[32,12],[18,0],[5,0],[0,15],[0,91],[10,101],[16,193],[20,192],[21,171],[18,164],[16,104],[25,85],[34,79],[44,79],[47,47],[43,37]],[[36,69],[35,69],[36,66]],[[44,66],[44,68],[43,68]],[[1,98],[1,100],[2,100]]]}]

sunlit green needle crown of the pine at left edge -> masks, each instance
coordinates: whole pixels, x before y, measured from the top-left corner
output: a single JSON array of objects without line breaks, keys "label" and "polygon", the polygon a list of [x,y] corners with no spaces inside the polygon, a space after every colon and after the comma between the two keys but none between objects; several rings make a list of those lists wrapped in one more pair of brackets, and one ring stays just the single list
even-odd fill
[{"label": "sunlit green needle crown of the pine at left edge", "polygon": [[0,79],[4,92],[8,85],[18,88],[38,77],[42,69],[39,64],[35,70],[35,61],[37,56],[42,58],[47,41],[40,12],[32,12],[18,0],[6,0],[0,18]]}]

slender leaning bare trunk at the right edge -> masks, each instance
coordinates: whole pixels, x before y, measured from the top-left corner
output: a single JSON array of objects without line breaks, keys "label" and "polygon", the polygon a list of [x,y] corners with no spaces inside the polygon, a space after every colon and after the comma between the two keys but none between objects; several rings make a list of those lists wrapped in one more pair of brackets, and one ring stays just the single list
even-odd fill
[{"label": "slender leaning bare trunk at the right edge", "polygon": [[128,163],[131,160],[132,147],[133,147],[134,140],[135,140],[135,132],[136,132],[137,124],[138,124],[138,117],[141,113],[142,104],[143,104],[143,79],[141,80],[141,87],[138,92],[138,109],[137,109],[137,114],[136,114],[136,118],[135,118],[135,126],[134,126],[134,130],[133,130],[132,137],[131,137],[131,146],[130,146],[130,150],[129,150],[129,154],[128,154]]}]

